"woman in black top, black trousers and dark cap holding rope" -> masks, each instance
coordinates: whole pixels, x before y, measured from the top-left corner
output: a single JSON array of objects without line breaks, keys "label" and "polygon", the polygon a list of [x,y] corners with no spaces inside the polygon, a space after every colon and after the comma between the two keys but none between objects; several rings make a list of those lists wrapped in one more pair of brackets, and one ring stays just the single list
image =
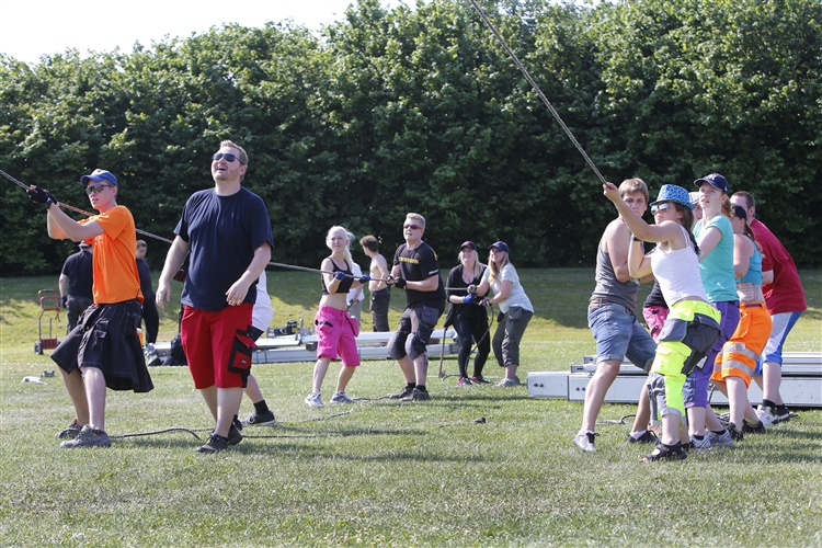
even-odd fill
[{"label": "woman in black top, black trousers and dark cap holding rope", "polygon": [[[488,334],[488,315],[480,306],[481,297],[476,294],[476,286],[482,279],[486,265],[477,258],[477,246],[472,241],[463,243],[459,250],[459,264],[448,273],[446,295],[448,296],[448,316],[444,328],[454,326],[459,341],[459,380],[457,386],[464,387],[472,383],[488,380],[482,376],[482,367],[491,353],[491,338]],[[475,290],[469,287],[473,286]],[[468,378],[468,361],[471,357],[471,346],[477,344],[477,356],[473,358],[473,376]]]}]

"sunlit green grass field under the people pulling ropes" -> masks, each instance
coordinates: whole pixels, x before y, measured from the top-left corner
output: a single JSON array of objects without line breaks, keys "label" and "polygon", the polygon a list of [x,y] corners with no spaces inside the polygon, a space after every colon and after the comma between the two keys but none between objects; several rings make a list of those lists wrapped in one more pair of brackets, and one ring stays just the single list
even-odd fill
[{"label": "sunlit green grass field under the people pulling ropes", "polygon": [[[787,350],[822,351],[822,272],[800,274],[810,309]],[[521,275],[537,315],[520,376],[592,354],[593,271]],[[580,403],[457,389],[437,378],[438,359],[431,402],[380,399],[401,374],[366,361],[349,390],[359,403],[342,409],[302,403],[313,364],[255,366],[279,422],[246,429],[249,438],[216,456],[195,454],[202,442],[182,431],[60,449],[54,434],[73,412],[59,373],[21,381],[56,368],[33,352],[42,288],[56,288],[56,276],[0,278],[0,546],[822,546],[822,410],[731,449],[639,464],[650,448],[625,443],[629,425],[598,426],[598,452],[582,454],[571,443]],[[311,321],[315,275],[270,272],[269,288],[274,327]],[[392,324],[401,298],[395,292]],[[173,305],[160,340],[175,331]],[[456,373],[456,361],[444,368]],[[187,370],[150,370],[153,391],[109,392],[110,435],[183,426],[205,438],[212,420]],[[241,414],[251,410],[244,400]],[[632,412],[605,406],[601,419]]]}]

